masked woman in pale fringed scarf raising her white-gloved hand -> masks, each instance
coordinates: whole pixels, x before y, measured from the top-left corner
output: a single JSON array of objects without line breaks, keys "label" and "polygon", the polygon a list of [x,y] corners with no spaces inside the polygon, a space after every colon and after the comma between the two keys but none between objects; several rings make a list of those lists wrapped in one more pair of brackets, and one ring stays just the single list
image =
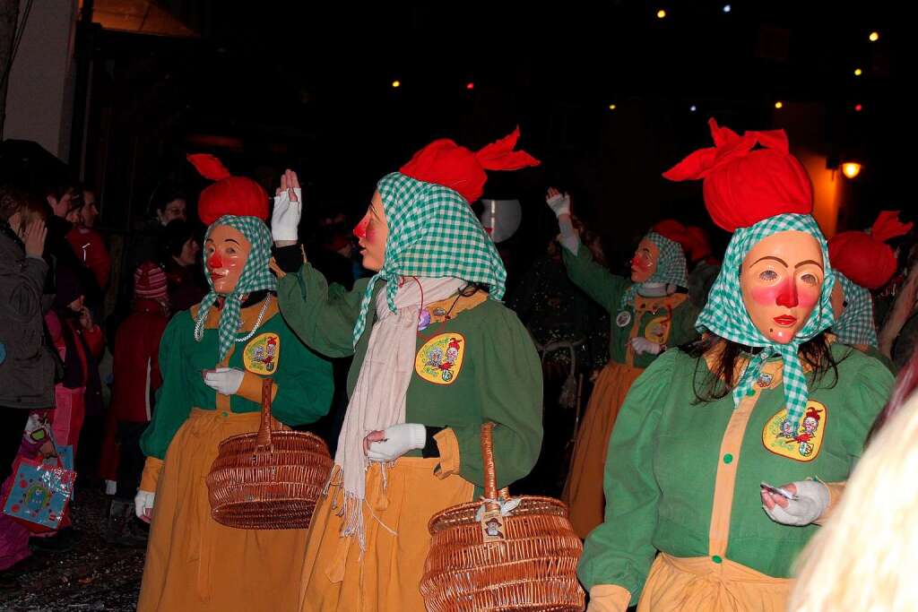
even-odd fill
[{"label": "masked woman in pale fringed scarf raising her white-gloved hand", "polygon": [[301,202],[287,172],[274,200],[281,312],[309,346],[353,355],[350,403],[328,495],[309,530],[297,609],[421,612],[431,516],[482,493],[481,427],[498,486],[530,472],[542,443],[542,369],[499,300],[507,273],[469,206],[487,170],[538,164],[519,131],[473,152],[420,150],[376,186],[354,230],[371,279],[331,287],[296,246]]}]

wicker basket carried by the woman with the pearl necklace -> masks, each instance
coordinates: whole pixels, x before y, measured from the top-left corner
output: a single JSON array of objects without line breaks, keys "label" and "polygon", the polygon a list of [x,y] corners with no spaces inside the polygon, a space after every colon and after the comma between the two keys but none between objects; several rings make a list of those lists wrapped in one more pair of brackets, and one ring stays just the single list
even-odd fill
[{"label": "wicker basket carried by the woman with the pearl necklace", "polygon": [[220,442],[207,474],[210,515],[239,529],[308,529],[331,472],[325,441],[282,429],[271,416],[272,380],[262,386],[258,433]]}]

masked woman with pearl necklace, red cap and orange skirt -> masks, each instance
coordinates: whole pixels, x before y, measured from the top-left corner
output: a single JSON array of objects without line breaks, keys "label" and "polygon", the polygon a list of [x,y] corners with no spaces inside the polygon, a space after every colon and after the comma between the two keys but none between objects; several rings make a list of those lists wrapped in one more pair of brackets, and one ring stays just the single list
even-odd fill
[{"label": "masked woman with pearl necklace, red cap and orange skirt", "polygon": [[[210,155],[188,159],[216,181],[200,198],[209,292],[175,314],[160,341],[162,386],[140,437],[146,462],[134,498],[137,517],[152,521],[138,610],[290,610],[307,530],[220,525],[204,483],[222,440],[258,430],[264,378],[274,382],[273,416],[305,425],[329,410],[331,367],[277,308],[262,187]],[[162,290],[159,273],[140,274],[149,281],[140,291]]]}]

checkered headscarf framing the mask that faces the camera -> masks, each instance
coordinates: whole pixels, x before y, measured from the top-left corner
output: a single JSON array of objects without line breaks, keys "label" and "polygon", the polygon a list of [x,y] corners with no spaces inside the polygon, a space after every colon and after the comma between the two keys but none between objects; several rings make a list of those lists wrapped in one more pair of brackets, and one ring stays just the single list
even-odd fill
[{"label": "checkered headscarf framing the mask that faces the camera", "polygon": [[[756,328],[746,311],[743,293],[740,289],[740,268],[749,250],[759,240],[782,231],[801,231],[817,239],[823,251],[825,269],[819,303],[813,308],[806,324],[787,344],[767,339]],[[829,264],[828,245],[823,237],[823,232],[816,225],[816,220],[810,215],[778,215],[759,221],[750,228],[736,230],[723,256],[721,273],[711,287],[708,304],[701,311],[698,322],[695,324],[699,331],[711,331],[733,342],[762,348],[762,351],[746,365],[743,375],[740,376],[739,382],[733,389],[734,404],[739,404],[743,396],[752,389],[765,362],[771,356],[778,354],[784,361],[784,401],[788,408],[788,419],[796,427],[800,418],[803,417],[810,395],[806,376],[800,365],[798,354],[800,344],[812,339],[824,329],[832,327],[834,315],[831,299],[834,282],[835,274]]]}]

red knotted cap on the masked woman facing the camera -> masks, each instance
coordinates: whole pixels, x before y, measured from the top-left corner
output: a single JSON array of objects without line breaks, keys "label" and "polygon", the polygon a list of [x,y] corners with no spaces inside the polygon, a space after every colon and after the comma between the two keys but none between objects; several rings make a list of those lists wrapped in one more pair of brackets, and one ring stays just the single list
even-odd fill
[{"label": "red knotted cap on the masked woman facing the camera", "polygon": [[[670,181],[704,179],[704,205],[727,231],[748,228],[783,213],[812,213],[812,183],[789,153],[783,129],[745,132],[719,128],[711,119],[714,146],[700,149],[664,172]],[[761,145],[761,149],[754,149]]]}]

